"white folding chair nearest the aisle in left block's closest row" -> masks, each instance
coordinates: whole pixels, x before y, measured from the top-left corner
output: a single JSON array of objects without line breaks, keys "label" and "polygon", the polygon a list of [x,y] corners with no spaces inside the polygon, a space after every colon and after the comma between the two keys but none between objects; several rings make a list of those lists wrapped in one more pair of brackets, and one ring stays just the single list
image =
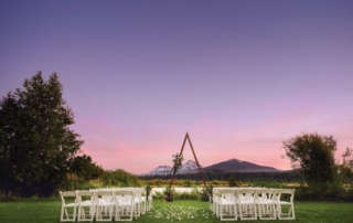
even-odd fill
[{"label": "white folding chair nearest the aisle in left block's closest row", "polygon": [[115,221],[132,221],[135,212],[133,191],[116,190],[115,195]]}]

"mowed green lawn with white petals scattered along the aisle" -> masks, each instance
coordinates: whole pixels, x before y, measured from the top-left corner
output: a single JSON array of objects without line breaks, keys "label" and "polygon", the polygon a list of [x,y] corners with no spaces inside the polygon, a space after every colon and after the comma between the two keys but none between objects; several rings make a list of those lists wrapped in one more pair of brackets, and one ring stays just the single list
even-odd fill
[{"label": "mowed green lawn with white petals scattered along the aisle", "polygon": [[[212,215],[208,203],[201,201],[174,201],[164,203],[154,200],[153,210],[141,217],[133,220],[139,223],[185,222],[185,223],[213,223],[221,222]],[[295,202],[295,221],[275,222],[317,222],[331,223],[353,222],[353,203],[347,202]],[[12,201],[0,202],[1,223],[51,223],[60,222],[61,201]],[[239,220],[238,220],[239,221]],[[244,222],[259,222],[244,221]],[[265,221],[271,222],[271,221]]]}]

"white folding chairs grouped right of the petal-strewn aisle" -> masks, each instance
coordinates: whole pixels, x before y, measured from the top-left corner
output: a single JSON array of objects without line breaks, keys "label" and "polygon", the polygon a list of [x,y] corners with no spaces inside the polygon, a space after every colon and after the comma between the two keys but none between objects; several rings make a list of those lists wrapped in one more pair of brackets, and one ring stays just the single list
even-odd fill
[{"label": "white folding chairs grouped right of the petal-strewn aisle", "polygon": [[[213,192],[212,211],[221,221],[235,221],[237,214],[240,220],[257,220],[257,215],[260,220],[295,219],[295,190],[228,188]],[[281,199],[285,193],[290,195],[289,201]],[[289,206],[287,212],[282,212],[284,205]]]}]

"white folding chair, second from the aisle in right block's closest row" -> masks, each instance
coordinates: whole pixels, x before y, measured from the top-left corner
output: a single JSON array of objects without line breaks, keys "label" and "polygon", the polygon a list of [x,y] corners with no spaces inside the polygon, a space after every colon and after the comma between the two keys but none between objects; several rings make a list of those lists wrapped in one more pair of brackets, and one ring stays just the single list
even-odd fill
[{"label": "white folding chair, second from the aisle in right block's closest row", "polygon": [[238,188],[237,204],[240,220],[257,220],[256,189]]}]

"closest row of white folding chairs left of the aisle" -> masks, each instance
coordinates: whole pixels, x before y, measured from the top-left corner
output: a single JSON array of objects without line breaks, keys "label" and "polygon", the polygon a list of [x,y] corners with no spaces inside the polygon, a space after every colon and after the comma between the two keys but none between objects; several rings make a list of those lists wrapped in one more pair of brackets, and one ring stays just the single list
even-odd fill
[{"label": "closest row of white folding chairs left of the aisle", "polygon": [[[115,221],[132,221],[135,210],[135,193],[132,190],[90,190],[60,192],[62,199],[61,221],[111,221],[115,212]],[[74,202],[67,202],[67,198]],[[73,209],[68,213],[67,209]]]}]

